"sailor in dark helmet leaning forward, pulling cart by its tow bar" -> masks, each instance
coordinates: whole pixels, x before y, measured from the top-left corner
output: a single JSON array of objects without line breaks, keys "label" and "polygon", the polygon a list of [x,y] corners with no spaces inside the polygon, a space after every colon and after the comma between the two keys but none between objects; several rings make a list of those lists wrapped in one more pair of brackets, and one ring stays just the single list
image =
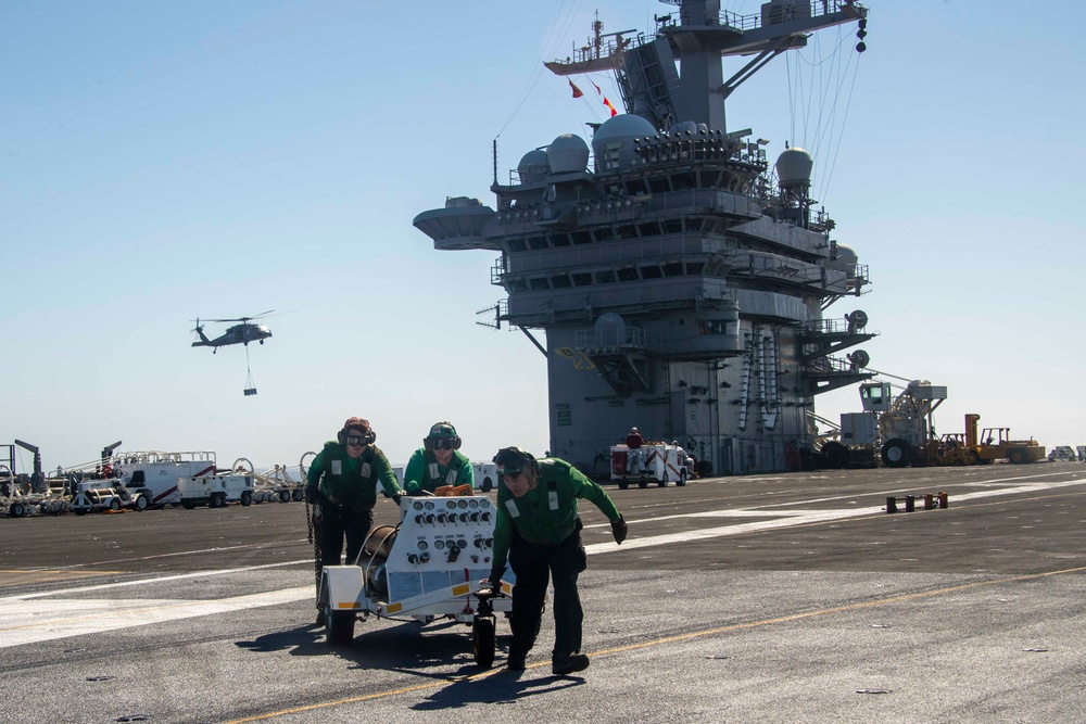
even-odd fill
[{"label": "sailor in dark helmet leaning forward, pulling cart by its tow bar", "polygon": [[626,520],[599,485],[565,460],[536,460],[520,447],[505,447],[494,456],[494,462],[502,484],[497,488],[490,585],[501,590],[507,557],[517,576],[507,665],[514,671],[523,670],[528,651],[535,644],[547,582],[553,576],[551,671],[560,676],[583,671],[589,668],[589,657],[581,653],[584,613],[577,593],[577,576],[588,567],[588,556],[581,545],[577,499],[590,500],[607,516],[616,543],[626,539]]}]

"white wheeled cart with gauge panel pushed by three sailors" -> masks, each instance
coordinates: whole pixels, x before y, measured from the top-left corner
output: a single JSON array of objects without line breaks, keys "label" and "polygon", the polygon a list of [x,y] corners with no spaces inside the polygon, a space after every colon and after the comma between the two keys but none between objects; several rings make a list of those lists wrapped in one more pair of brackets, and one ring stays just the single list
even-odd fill
[{"label": "white wheeled cart with gauge panel pushed by three sailors", "polygon": [[399,525],[370,530],[353,564],[324,567],[319,600],[328,644],[349,646],[355,621],[370,614],[424,624],[447,618],[471,625],[475,661],[490,668],[495,613],[513,609],[510,581],[501,592],[485,581],[495,518],[491,499],[466,485],[401,498]]}]

